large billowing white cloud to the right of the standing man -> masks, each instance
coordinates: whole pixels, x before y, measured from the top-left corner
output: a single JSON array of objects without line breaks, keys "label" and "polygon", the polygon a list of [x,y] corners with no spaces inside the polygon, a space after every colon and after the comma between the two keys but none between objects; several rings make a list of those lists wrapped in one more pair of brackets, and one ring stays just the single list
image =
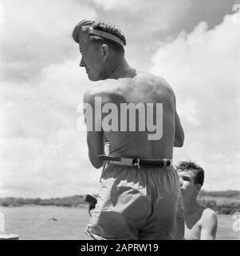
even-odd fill
[{"label": "large billowing white cloud to the right of the standing man", "polygon": [[[226,15],[207,30],[200,22],[152,57],[152,72],[171,83],[186,133],[175,159],[191,158],[206,167],[208,190],[238,189],[239,24]],[[224,178],[222,178],[224,177]]]}]

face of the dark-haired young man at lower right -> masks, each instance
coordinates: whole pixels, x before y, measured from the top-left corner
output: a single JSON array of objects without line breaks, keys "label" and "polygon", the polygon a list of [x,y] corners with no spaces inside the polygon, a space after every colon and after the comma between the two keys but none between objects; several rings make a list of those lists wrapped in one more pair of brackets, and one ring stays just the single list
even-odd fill
[{"label": "face of the dark-haired young man at lower right", "polygon": [[195,184],[195,174],[191,170],[179,170],[179,182],[183,197],[197,196],[201,186]]}]

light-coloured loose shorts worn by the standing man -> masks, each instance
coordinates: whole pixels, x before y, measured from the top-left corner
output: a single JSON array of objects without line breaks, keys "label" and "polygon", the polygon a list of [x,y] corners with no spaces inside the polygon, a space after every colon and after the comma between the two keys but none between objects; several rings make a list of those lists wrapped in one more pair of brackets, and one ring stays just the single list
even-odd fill
[{"label": "light-coloured loose shorts worn by the standing man", "polygon": [[94,239],[174,239],[179,177],[174,167],[108,165],[85,233]]}]

